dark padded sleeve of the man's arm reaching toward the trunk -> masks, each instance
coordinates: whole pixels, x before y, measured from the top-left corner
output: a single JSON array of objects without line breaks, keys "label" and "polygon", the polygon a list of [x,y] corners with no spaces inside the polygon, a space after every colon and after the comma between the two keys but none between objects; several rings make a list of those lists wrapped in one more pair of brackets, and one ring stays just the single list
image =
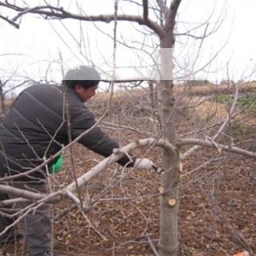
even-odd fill
[{"label": "dark padded sleeve of the man's arm reaching toward the trunk", "polygon": [[[78,138],[80,134],[89,130],[94,124],[94,114],[86,107],[83,108],[81,113],[77,112],[76,118],[71,122],[72,139]],[[118,143],[98,127],[94,127],[94,129],[90,130],[88,134],[85,134],[78,142],[104,157],[109,157],[114,149],[119,148]],[[132,157],[132,159],[134,160],[134,157]],[[134,166],[134,162],[131,162],[128,157],[121,158],[118,160],[118,163],[122,166]]]}]

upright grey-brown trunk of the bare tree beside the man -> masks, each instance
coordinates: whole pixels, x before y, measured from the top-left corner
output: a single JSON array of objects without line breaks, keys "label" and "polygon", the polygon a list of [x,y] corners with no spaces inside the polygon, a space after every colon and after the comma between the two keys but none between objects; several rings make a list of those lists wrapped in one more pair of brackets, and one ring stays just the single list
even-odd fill
[{"label": "upright grey-brown trunk of the bare tree beside the man", "polygon": [[[172,145],[177,141],[174,126],[174,83],[166,75],[173,73],[172,47],[174,37],[172,33],[161,40],[161,72],[162,79],[158,85],[159,114],[162,126],[162,137]],[[178,183],[180,159],[178,150],[163,152],[162,167],[166,170],[162,174],[162,196],[160,198],[160,238],[159,254],[161,256],[178,256]]]}]

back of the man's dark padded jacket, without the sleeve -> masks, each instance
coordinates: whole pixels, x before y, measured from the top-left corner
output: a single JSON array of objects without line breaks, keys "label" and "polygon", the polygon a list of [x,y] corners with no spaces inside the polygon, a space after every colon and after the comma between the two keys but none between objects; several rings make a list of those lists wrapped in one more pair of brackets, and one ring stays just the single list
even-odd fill
[{"label": "back of the man's dark padded jacket, without the sleeve", "polygon": [[0,171],[24,172],[61,149],[67,139],[63,99],[62,86],[42,84],[18,95],[0,126]]}]

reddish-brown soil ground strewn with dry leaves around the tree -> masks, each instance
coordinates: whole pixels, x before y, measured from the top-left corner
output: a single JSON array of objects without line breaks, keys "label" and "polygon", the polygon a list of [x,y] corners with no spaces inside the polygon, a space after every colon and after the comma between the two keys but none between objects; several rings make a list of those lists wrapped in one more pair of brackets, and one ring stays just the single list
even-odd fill
[{"label": "reddish-brown soil ground strewn with dry leaves around the tree", "polygon": [[[143,130],[154,134],[150,119],[143,118],[147,108],[142,109],[135,103],[120,105],[120,102],[114,102],[116,105],[104,121],[116,126],[102,125],[102,129],[123,146],[149,137],[142,133]],[[92,104],[96,114],[102,113],[105,107],[98,104]],[[200,107],[209,113],[208,107]],[[205,128],[209,118],[202,114],[200,107],[196,112],[192,111],[194,114],[186,107],[179,110],[177,130],[181,136],[210,136],[211,129],[201,135],[193,134],[195,129]],[[234,124],[230,126],[230,133],[235,142],[246,140],[247,143],[241,146],[254,150],[254,124]],[[128,129],[128,126],[137,131]],[[226,142],[226,137],[220,140]],[[186,152],[188,148],[182,151]],[[78,144],[72,151],[77,177],[102,159]],[[145,152],[136,150],[134,154],[142,157]],[[160,164],[161,150],[150,150],[146,158]],[[65,154],[62,172],[56,174],[54,180],[62,184],[73,181],[70,166],[69,151]],[[230,256],[242,250],[249,250],[253,255],[256,252],[254,166],[252,158],[210,148],[202,148],[183,161],[179,186],[181,256]],[[86,256],[155,255],[154,248],[158,250],[159,238],[160,186],[160,177],[154,170],[131,171],[118,165],[110,166],[82,187],[80,196],[87,202],[83,212],[67,199],[53,206],[54,251]],[[26,246],[18,243],[3,247],[2,255],[22,255],[25,251]]]}]

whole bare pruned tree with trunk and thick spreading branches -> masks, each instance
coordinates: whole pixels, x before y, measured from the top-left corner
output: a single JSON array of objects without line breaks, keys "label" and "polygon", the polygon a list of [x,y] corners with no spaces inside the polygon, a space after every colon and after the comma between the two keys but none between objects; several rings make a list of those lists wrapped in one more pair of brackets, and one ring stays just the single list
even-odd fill
[{"label": "whole bare pruned tree with trunk and thick spreading branches", "polygon": [[[138,10],[138,14],[130,14],[129,11],[122,10],[123,13],[118,13],[118,5],[121,2],[129,3],[134,10]],[[221,144],[217,142],[217,139],[220,134],[225,133],[226,127],[230,124],[230,117],[233,116],[235,107],[238,102],[239,94],[239,84],[234,85],[234,101],[233,105],[230,107],[228,117],[224,122],[219,126],[219,129],[216,130],[214,134],[207,136],[204,140],[202,138],[179,138],[177,133],[177,123],[175,122],[176,111],[180,104],[180,98],[175,99],[174,96],[174,59],[173,59],[173,49],[175,42],[175,36],[178,36],[178,8],[182,0],[142,0],[142,1],[114,1],[114,12],[113,14],[95,14],[88,15],[82,8],[78,8],[77,12],[69,11],[68,7],[62,6],[62,3],[58,1],[56,6],[50,5],[50,2],[44,2],[43,5],[30,6],[29,2],[24,2],[21,5],[18,5],[18,2],[11,4],[10,2],[0,2],[2,8],[11,10],[15,14],[10,18],[9,16],[1,15],[0,18],[9,22],[10,25],[19,28],[22,26],[22,17],[29,14],[40,15],[42,18],[53,21],[56,19],[73,19],[80,22],[105,22],[110,23],[114,22],[114,48],[118,42],[116,38],[116,30],[118,22],[131,22],[138,24],[138,27],[142,27],[144,33],[152,35],[154,42],[158,45],[158,77],[154,78],[133,78],[136,80],[150,80],[151,88],[154,84],[154,88],[157,91],[158,98],[155,104],[158,104],[158,134],[156,138],[149,138],[148,140],[139,141],[137,144],[131,144],[123,148],[124,151],[130,151],[136,148],[137,146],[149,146],[157,145],[162,147],[162,169],[165,172],[162,174],[162,187],[161,187],[161,196],[160,196],[160,237],[158,241],[159,255],[166,256],[178,256],[179,254],[179,242],[178,242],[178,205],[179,205],[179,178],[180,171],[182,170],[181,161],[194,154],[196,150],[200,149],[202,146],[212,147],[217,150],[226,150],[236,154],[244,154],[251,158],[255,158],[253,152],[242,150],[236,146],[227,144]],[[64,4],[64,3],[63,3]],[[212,34],[216,27],[210,32],[207,31],[209,24],[206,22],[202,24],[204,30],[200,36],[197,35],[199,40],[203,40],[208,35]],[[109,25],[110,26],[110,25]],[[136,29],[138,28],[136,27]],[[176,35],[177,34],[177,35]],[[184,35],[184,34],[183,34]],[[186,36],[193,36],[192,34],[186,34]],[[145,37],[146,38],[146,37]],[[119,41],[120,43],[120,41]],[[128,43],[127,43],[128,46]],[[178,62],[178,59],[175,60]],[[133,79],[130,79],[133,80]],[[114,82],[125,82],[122,79],[118,81],[118,78],[113,75],[109,79],[112,84]],[[189,83],[181,91],[181,95],[186,93],[186,88],[189,86]],[[186,151],[185,154],[181,154],[181,149],[183,146],[192,146],[190,150]],[[65,149],[63,149],[65,150]],[[59,153],[60,154],[60,153]],[[99,171],[103,170],[111,162],[116,161],[120,157],[119,154],[114,154],[110,159],[104,160],[99,166],[95,166],[92,172],[85,174],[85,177],[78,178],[77,182],[71,183],[66,187],[66,190],[58,191],[54,196],[58,197],[61,194],[66,194],[67,197],[74,200],[74,202],[79,202],[73,194],[74,190],[79,186],[82,186],[84,180],[89,181],[90,178],[94,177],[95,174],[98,174]],[[47,162],[47,161],[46,161]],[[48,161],[49,162],[49,161]],[[38,166],[39,168],[40,166]],[[34,170],[32,170],[34,171]],[[93,173],[93,174],[91,174]],[[91,175],[91,176],[90,176]],[[90,178],[89,178],[90,176]],[[81,183],[80,183],[81,182]],[[10,194],[18,194],[20,191],[9,190],[4,186],[0,187],[2,192]],[[39,194],[28,193],[25,198],[31,199],[36,198],[37,200],[46,200],[47,198]],[[53,197],[53,194],[50,194],[50,198]],[[49,198],[48,198],[49,199]],[[47,200],[48,200],[47,199]],[[42,202],[42,201],[40,201]]]}]

